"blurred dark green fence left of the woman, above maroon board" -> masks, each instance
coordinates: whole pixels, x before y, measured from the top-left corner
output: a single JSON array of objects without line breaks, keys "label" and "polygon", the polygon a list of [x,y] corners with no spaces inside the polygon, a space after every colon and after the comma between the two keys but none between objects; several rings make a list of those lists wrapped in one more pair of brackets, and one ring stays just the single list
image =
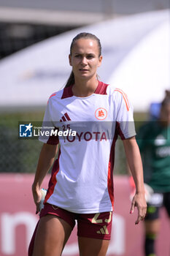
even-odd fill
[{"label": "blurred dark green fence left of the woman, above maroon board", "polygon": [[42,112],[0,114],[0,173],[33,173],[42,143],[20,140],[18,122],[42,118]]}]

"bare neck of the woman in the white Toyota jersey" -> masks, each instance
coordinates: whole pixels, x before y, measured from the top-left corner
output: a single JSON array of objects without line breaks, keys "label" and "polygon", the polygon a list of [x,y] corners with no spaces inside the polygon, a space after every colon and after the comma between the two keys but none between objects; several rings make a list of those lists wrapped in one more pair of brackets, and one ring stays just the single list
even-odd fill
[{"label": "bare neck of the woman in the white Toyota jersey", "polygon": [[77,97],[88,97],[94,93],[98,86],[98,80],[90,79],[90,80],[79,80],[75,79],[74,86],[72,87],[72,92],[74,96]]}]

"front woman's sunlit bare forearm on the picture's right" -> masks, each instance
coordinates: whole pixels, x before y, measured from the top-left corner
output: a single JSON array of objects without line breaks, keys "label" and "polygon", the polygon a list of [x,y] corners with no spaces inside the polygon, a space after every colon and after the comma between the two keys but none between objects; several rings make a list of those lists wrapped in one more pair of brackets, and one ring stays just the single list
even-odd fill
[{"label": "front woman's sunlit bare forearm on the picture's right", "polygon": [[142,159],[135,138],[123,140],[125,155],[134,178],[136,193],[144,193]]}]

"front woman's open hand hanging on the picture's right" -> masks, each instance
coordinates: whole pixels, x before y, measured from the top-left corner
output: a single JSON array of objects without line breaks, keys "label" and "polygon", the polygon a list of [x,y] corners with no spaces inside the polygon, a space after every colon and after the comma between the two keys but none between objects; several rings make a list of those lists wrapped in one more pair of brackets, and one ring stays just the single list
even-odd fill
[{"label": "front woman's open hand hanging on the picture's right", "polygon": [[147,213],[147,203],[144,197],[144,193],[136,193],[131,202],[131,211],[130,214],[134,213],[134,209],[137,207],[138,209],[138,217],[136,219],[135,224],[139,224],[142,221]]}]

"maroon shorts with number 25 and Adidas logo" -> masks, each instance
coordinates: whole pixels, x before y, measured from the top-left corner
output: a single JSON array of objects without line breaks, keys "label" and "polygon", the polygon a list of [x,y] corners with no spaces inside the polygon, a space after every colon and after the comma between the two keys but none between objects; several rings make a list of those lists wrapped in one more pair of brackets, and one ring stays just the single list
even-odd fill
[{"label": "maroon shorts with number 25 and Adidas logo", "polygon": [[67,222],[72,229],[77,220],[77,236],[110,240],[112,230],[112,211],[101,214],[74,214],[57,206],[45,203],[40,218],[47,214],[53,214]]}]

